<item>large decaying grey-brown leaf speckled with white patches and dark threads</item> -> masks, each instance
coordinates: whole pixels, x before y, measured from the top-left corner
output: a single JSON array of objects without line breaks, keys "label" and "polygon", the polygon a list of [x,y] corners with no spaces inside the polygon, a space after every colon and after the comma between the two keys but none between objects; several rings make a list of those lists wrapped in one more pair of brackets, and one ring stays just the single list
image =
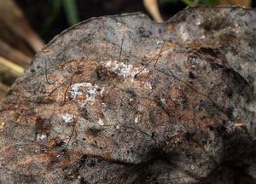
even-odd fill
[{"label": "large decaying grey-brown leaf speckled with white patches and dark threads", "polygon": [[195,8],[62,32],[2,101],[1,183],[254,183],[255,29]]}]

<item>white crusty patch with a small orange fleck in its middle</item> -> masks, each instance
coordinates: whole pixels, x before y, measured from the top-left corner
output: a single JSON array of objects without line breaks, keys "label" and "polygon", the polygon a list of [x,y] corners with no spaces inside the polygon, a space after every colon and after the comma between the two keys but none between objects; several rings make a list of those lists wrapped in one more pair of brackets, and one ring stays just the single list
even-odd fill
[{"label": "white crusty patch with a small orange fleck in its middle", "polygon": [[93,104],[97,95],[102,98],[104,91],[104,87],[101,88],[93,83],[74,83],[71,86],[70,95],[73,100],[79,99],[81,104],[85,105],[88,102]]}]

